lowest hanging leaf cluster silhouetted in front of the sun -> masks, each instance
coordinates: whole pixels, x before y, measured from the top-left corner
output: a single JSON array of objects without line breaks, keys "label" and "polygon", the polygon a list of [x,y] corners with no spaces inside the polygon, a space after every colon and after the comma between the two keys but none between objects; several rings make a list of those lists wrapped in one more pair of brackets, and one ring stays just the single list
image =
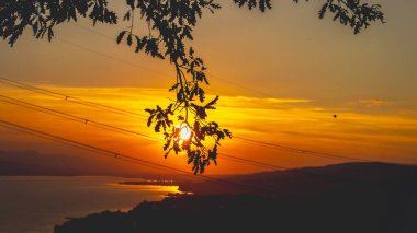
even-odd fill
[{"label": "lowest hanging leaf cluster silhouetted in front of the sun", "polygon": [[[208,84],[204,61],[195,57],[194,50],[190,48],[187,62],[177,62],[176,68],[177,82],[170,91],[176,92],[177,98],[166,109],[159,106],[146,109],[149,113],[148,127],[154,126],[156,132],[164,129],[166,158],[170,152],[176,154],[184,152],[194,174],[201,174],[212,162],[217,164],[217,147],[221,145],[221,140],[226,137],[232,138],[232,133],[221,128],[215,121],[206,121],[207,110],[215,109],[219,97],[216,96],[210,102],[205,101],[205,92],[201,86]],[[176,115],[178,115],[178,125],[173,125],[172,120]],[[190,138],[181,138],[182,127],[190,130]],[[214,141],[211,149],[207,149],[208,140]]]}]

